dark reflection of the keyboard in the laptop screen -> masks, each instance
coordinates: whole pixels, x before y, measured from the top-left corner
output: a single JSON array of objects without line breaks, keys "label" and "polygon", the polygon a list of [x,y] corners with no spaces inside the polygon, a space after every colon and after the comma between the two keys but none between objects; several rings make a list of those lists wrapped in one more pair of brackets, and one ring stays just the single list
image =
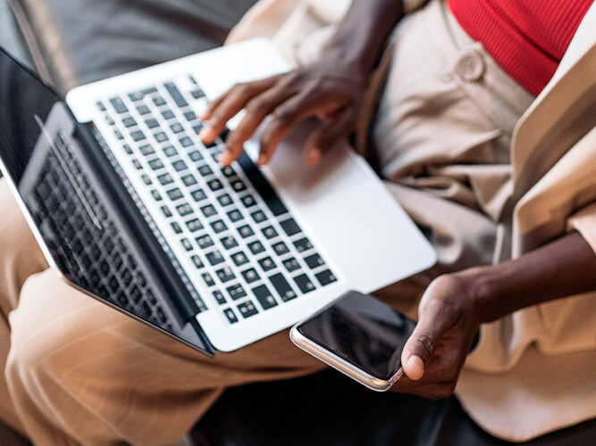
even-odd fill
[{"label": "dark reflection of the keyboard in the laptop screen", "polygon": [[172,332],[172,318],[155,299],[138,259],[66,140],[62,133],[55,136],[34,186],[38,212],[33,219],[55,236],[55,261],[76,284]]}]

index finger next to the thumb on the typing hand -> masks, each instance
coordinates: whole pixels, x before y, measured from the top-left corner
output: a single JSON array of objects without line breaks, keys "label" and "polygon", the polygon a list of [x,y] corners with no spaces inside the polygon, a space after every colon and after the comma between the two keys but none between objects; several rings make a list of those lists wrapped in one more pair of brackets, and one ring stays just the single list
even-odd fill
[{"label": "index finger next to the thumb on the typing hand", "polygon": [[298,121],[315,115],[331,114],[336,107],[335,103],[322,104],[321,97],[311,95],[309,90],[292,96],[288,101],[282,103],[273,111],[273,119],[264,129],[258,163],[266,164],[271,160],[277,145]]}]

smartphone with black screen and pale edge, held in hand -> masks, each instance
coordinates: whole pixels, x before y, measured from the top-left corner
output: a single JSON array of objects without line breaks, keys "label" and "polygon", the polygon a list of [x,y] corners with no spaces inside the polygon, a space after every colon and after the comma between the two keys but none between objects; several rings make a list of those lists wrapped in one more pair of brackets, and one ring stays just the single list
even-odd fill
[{"label": "smartphone with black screen and pale edge, held in hand", "polygon": [[416,322],[371,295],[348,291],[298,322],[293,343],[374,391],[403,375],[401,351]]}]

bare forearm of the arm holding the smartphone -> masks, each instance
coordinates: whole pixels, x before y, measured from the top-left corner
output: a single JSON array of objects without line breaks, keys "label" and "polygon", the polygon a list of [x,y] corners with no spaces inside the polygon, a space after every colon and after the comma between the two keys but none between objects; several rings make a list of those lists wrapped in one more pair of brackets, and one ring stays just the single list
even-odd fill
[{"label": "bare forearm of the arm holding the smartphone", "polygon": [[596,291],[596,254],[573,232],[516,260],[457,276],[473,287],[480,321],[490,322],[537,303]]}]

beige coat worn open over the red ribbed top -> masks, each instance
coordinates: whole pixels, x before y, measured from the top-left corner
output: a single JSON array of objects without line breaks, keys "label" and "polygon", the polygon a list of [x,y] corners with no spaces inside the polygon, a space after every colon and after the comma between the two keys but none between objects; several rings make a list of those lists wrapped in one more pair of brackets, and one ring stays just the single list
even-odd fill
[{"label": "beige coat worn open over the red ribbed top", "polygon": [[[316,57],[348,0],[261,0],[229,41],[270,37],[294,64]],[[497,222],[497,260],[575,229],[596,252],[596,6],[519,120]],[[491,434],[524,441],[596,417],[596,293],[483,326],[456,394]]]}]

